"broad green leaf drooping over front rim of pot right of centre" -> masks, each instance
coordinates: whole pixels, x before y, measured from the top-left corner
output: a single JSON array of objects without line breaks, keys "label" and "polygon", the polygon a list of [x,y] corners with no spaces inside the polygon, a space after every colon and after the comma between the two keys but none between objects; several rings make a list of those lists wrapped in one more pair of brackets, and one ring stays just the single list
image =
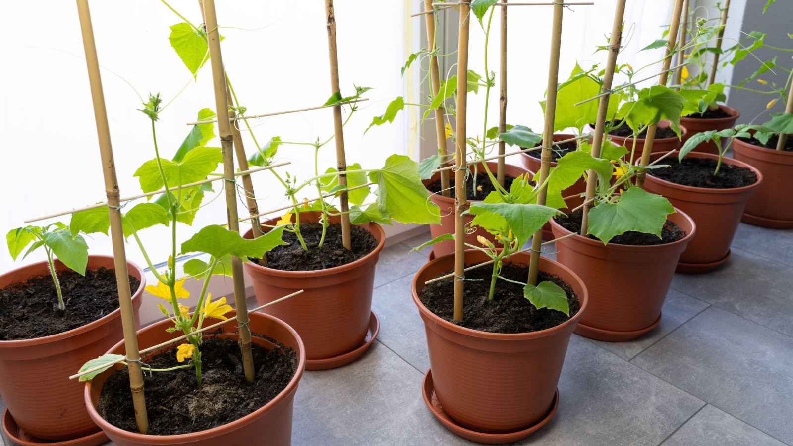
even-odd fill
[{"label": "broad green leaf drooping over front rim of pot right of centre", "polygon": [[650,194],[640,187],[630,187],[617,204],[601,202],[589,211],[588,233],[607,244],[615,236],[628,231],[654,234],[661,238],[666,216],[675,208],[661,195]]}]

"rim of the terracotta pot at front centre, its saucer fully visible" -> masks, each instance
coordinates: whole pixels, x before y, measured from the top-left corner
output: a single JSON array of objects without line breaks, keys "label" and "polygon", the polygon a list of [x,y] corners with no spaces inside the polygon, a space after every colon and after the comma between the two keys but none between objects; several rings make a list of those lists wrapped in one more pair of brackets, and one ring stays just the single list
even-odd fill
[{"label": "rim of the terracotta pot at front centre, its saucer fully visible", "polygon": [[[469,253],[477,254],[477,253],[480,253],[480,252],[477,251],[476,249],[466,249],[465,250],[465,255],[467,256]],[[525,252],[522,252],[522,253],[518,254],[517,256],[522,257],[522,256],[527,256],[527,254]],[[570,325],[577,325],[578,321],[580,320],[580,318],[584,315],[584,310],[586,310],[586,308],[588,306],[589,297],[588,297],[587,286],[584,284],[584,281],[581,280],[581,278],[578,277],[578,275],[575,272],[573,272],[573,270],[571,270],[569,267],[565,267],[565,265],[563,265],[563,264],[561,264],[561,263],[559,263],[559,262],[557,262],[555,260],[550,260],[550,259],[548,259],[546,257],[540,257],[540,262],[541,263],[549,263],[549,262],[550,263],[556,263],[557,266],[561,267],[561,269],[563,271],[565,271],[565,274],[569,274],[570,275],[569,278],[564,278],[565,282],[569,281],[570,278],[575,278],[576,281],[578,282],[579,286],[580,286],[580,289],[583,290],[583,293],[582,293],[583,295],[579,295],[578,296],[578,302],[580,303],[580,308],[578,309],[578,313],[576,313],[573,317],[570,317],[567,321],[564,321],[564,322],[562,322],[559,325],[551,327],[550,329],[544,329],[544,330],[540,330],[538,332],[530,332],[530,333],[490,333],[490,332],[481,332],[479,330],[466,329],[465,327],[461,327],[459,325],[452,324],[450,321],[446,321],[446,319],[443,319],[442,317],[439,317],[435,313],[432,313],[430,310],[427,309],[426,306],[424,306],[424,304],[421,302],[421,299],[419,299],[418,293],[416,293],[416,286],[419,284],[418,283],[419,275],[429,265],[431,265],[433,263],[440,263],[443,260],[446,260],[446,259],[449,259],[449,258],[453,258],[453,257],[454,257],[454,252],[452,252],[450,254],[446,254],[444,256],[436,257],[434,260],[431,260],[431,261],[427,262],[426,264],[424,264],[423,267],[421,267],[419,269],[418,272],[416,272],[416,275],[413,276],[413,280],[412,280],[412,284],[411,284],[411,292],[412,292],[412,296],[413,296],[413,303],[415,303],[416,306],[419,308],[419,312],[422,314],[422,316],[429,317],[431,319],[431,321],[435,325],[440,325],[444,329],[448,329],[450,331],[453,331],[453,332],[456,332],[458,334],[462,334],[462,335],[465,335],[465,336],[476,337],[476,338],[479,338],[479,339],[488,339],[488,340],[510,341],[510,340],[540,339],[542,337],[552,336],[554,334],[557,334],[557,333],[560,333],[560,332],[564,332],[565,330],[569,329]]]}]

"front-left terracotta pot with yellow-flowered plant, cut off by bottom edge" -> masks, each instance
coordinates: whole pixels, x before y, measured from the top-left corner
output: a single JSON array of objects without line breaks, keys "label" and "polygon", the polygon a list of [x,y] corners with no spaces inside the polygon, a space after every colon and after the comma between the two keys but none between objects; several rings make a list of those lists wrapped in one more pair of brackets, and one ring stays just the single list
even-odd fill
[{"label": "front-left terracotta pot with yellow-flowered plant, cut off by bottom edge", "polygon": [[[236,316],[232,311],[227,314],[229,319]],[[159,321],[147,326],[138,332],[138,343],[141,348],[160,344],[169,339],[178,337],[179,332],[167,333],[165,329],[173,325],[168,320]],[[86,382],[83,390],[85,405],[88,413],[97,425],[105,431],[110,440],[118,446],[144,446],[148,444],[186,444],[190,446],[216,446],[218,444],[253,444],[256,441],[265,441],[272,446],[289,446],[292,444],[292,413],[293,400],[297,392],[297,383],[303,376],[305,368],[305,351],[300,336],[297,335],[292,327],[279,321],[275,317],[263,313],[251,313],[251,332],[270,337],[297,352],[297,371],[289,381],[289,384],[277,397],[268,402],[262,408],[253,413],[247,414],[239,420],[232,421],[226,425],[218,426],[213,429],[196,433],[185,433],[181,435],[143,435],[132,433],[124,429],[119,429],[111,425],[104,418],[99,416],[96,407],[99,396],[102,394],[102,386],[114,371],[121,368],[121,364],[110,367],[107,371]],[[236,327],[233,322],[221,325],[224,334],[218,336],[228,337],[238,340]],[[253,342],[266,348],[274,348],[274,344],[260,337],[254,336]],[[165,349],[165,348],[163,348]],[[121,341],[109,350],[109,353],[123,355],[125,352],[124,342]],[[160,351],[161,352],[161,351]],[[155,354],[152,352],[149,356]],[[145,362],[145,359],[144,359]],[[155,372],[156,373],[156,372]],[[145,392],[145,389],[144,389]]]}]

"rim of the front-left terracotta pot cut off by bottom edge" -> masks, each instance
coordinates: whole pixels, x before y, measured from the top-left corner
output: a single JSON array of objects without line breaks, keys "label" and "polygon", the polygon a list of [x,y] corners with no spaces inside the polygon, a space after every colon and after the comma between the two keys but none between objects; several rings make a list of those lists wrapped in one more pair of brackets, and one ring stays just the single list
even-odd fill
[{"label": "rim of the front-left terracotta pot cut off by bottom edge", "polygon": [[[236,310],[232,310],[232,312],[228,314],[232,314],[232,313],[234,316],[236,316]],[[106,421],[104,418],[102,418],[99,415],[99,413],[96,411],[96,408],[94,407],[94,404],[90,402],[91,383],[93,383],[93,380],[89,380],[86,381],[85,390],[83,390],[83,398],[86,401],[86,409],[88,409],[88,413],[90,414],[91,418],[94,419],[94,422],[103,431],[105,431],[105,433],[110,432],[115,436],[125,437],[127,440],[136,441],[142,444],[155,444],[152,441],[154,439],[157,439],[159,440],[159,442],[156,444],[182,444],[188,441],[197,440],[196,438],[197,436],[206,436],[207,439],[210,439],[223,435],[224,433],[234,431],[236,429],[239,429],[239,427],[242,427],[243,425],[250,424],[252,421],[254,421],[256,417],[261,416],[263,412],[270,411],[275,406],[278,406],[283,402],[284,398],[286,398],[287,395],[297,390],[297,384],[300,382],[300,379],[303,376],[303,371],[305,371],[305,346],[303,345],[303,340],[301,340],[300,335],[297,334],[295,329],[293,329],[289,324],[285,323],[281,319],[278,319],[278,317],[273,317],[270,316],[269,314],[259,313],[259,312],[250,313],[249,316],[269,318],[272,319],[276,324],[282,325],[285,329],[289,330],[289,333],[292,333],[292,336],[294,336],[294,338],[297,340],[297,346],[299,348],[299,350],[297,351],[297,371],[295,371],[295,374],[293,375],[292,379],[289,380],[289,384],[286,385],[284,390],[279,392],[278,395],[275,396],[275,398],[270,400],[270,402],[267,402],[264,406],[259,407],[259,409],[256,409],[251,413],[248,413],[246,416],[242,418],[239,418],[230,423],[226,423],[225,425],[220,425],[212,429],[206,429],[198,432],[180,433],[178,435],[149,435],[144,433],[134,433],[125,429],[117,428],[114,425],[111,425],[108,421]],[[229,317],[229,319],[231,318],[232,317]],[[148,325],[138,330],[136,332],[136,335],[137,333],[142,333],[148,329],[159,329],[159,325],[169,325],[169,324],[170,321],[164,319],[163,321],[155,322],[154,324]],[[236,333],[221,333],[221,334],[234,335]],[[259,333],[259,334],[267,336],[265,333]],[[121,340],[117,344],[113,345],[113,348],[110,348],[108,352],[113,352],[113,350],[123,345],[124,345],[124,340]],[[207,433],[209,433],[208,436]]]}]

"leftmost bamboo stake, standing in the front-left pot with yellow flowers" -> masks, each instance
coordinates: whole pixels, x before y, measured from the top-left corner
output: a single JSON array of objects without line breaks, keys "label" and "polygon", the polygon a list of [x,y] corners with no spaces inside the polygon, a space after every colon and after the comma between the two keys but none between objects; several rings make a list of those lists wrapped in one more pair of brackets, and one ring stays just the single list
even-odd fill
[{"label": "leftmost bamboo stake, standing in the front-left pot with yellow flowers", "polygon": [[94,42],[94,26],[91,24],[88,0],[77,0],[77,10],[80,17],[82,45],[86,52],[91,98],[94,102],[94,118],[96,119],[99,136],[99,152],[102,154],[105,192],[109,203],[110,236],[113,240],[113,260],[116,268],[118,301],[121,307],[121,327],[124,330],[125,358],[129,362],[129,386],[132,391],[132,405],[135,407],[135,421],[138,425],[138,431],[146,433],[148,430],[148,416],[146,413],[146,398],[144,396],[144,376],[140,370],[140,352],[138,352],[138,338],[135,333],[132,294],[129,290],[124,230],[121,227],[121,209],[118,199],[121,194],[118,189],[116,164],[113,160],[113,144],[110,141],[110,128],[107,121],[107,110],[105,109],[105,93],[102,90],[102,75],[99,73],[99,59],[96,43]]}]

